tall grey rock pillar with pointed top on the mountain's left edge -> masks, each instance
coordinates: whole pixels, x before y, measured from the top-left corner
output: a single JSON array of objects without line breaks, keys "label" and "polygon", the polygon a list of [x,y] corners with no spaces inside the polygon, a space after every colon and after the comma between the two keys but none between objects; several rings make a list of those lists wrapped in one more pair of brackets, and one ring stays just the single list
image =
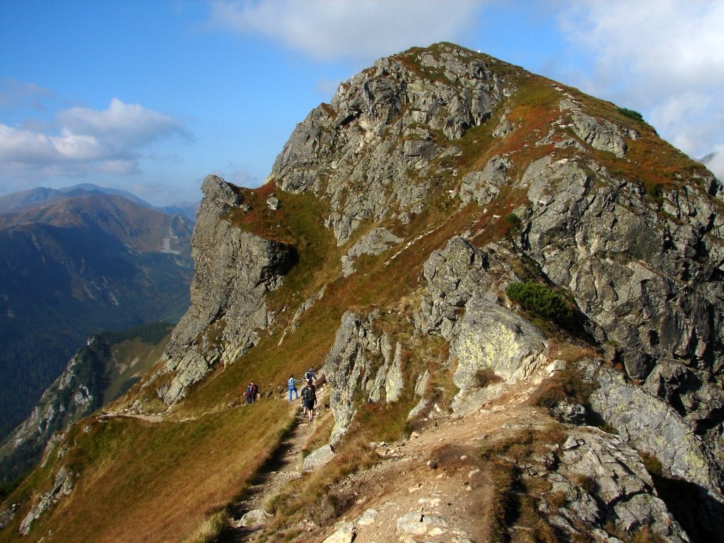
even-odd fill
[{"label": "tall grey rock pillar with pointed top on the mountain's left edge", "polygon": [[[243,211],[243,198],[227,182],[209,175],[191,240],[196,274],[191,307],[174,329],[164,351],[164,369],[172,374],[158,389],[165,403],[185,396],[222,361],[227,364],[258,341],[274,316],[264,295],[282,284],[291,263],[291,249],[232,224],[232,209]],[[159,375],[157,375],[159,376]]]}]

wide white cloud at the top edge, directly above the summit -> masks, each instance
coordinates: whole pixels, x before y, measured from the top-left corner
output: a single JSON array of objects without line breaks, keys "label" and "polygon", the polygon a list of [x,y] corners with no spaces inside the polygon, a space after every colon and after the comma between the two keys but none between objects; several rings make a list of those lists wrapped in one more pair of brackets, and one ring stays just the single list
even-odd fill
[{"label": "wide white cloud at the top edge, directly above the summit", "polygon": [[473,30],[480,0],[211,0],[211,20],[259,33],[315,59],[371,59],[458,41]]}]

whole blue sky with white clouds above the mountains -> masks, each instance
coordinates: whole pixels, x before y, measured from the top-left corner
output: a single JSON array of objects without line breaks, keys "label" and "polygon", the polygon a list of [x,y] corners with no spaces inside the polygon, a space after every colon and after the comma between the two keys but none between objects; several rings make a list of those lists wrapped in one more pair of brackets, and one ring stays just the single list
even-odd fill
[{"label": "whole blue sky with white clouds above the mountains", "polygon": [[0,0],[0,195],[260,185],[381,56],[452,41],[641,111],[724,174],[724,1]]}]

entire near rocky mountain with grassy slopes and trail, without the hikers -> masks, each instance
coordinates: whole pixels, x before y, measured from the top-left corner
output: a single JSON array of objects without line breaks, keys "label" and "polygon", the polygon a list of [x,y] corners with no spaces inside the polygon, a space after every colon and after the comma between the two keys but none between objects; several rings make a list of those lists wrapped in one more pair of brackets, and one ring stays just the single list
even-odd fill
[{"label": "entire near rocky mountain with grassy slopes and trail, without the hikers", "polygon": [[449,43],[342,83],[203,182],[191,308],[0,541],[720,539],[723,188],[631,113]]}]

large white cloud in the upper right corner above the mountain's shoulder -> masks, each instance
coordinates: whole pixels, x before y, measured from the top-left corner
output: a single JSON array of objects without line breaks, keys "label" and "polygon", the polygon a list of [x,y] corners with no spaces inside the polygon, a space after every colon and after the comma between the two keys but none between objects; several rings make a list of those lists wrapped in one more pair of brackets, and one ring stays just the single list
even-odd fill
[{"label": "large white cloud in the upper right corner above the mountain's shoulder", "polygon": [[644,112],[692,156],[724,144],[724,2],[584,0],[561,20],[594,56],[588,92]]}]

